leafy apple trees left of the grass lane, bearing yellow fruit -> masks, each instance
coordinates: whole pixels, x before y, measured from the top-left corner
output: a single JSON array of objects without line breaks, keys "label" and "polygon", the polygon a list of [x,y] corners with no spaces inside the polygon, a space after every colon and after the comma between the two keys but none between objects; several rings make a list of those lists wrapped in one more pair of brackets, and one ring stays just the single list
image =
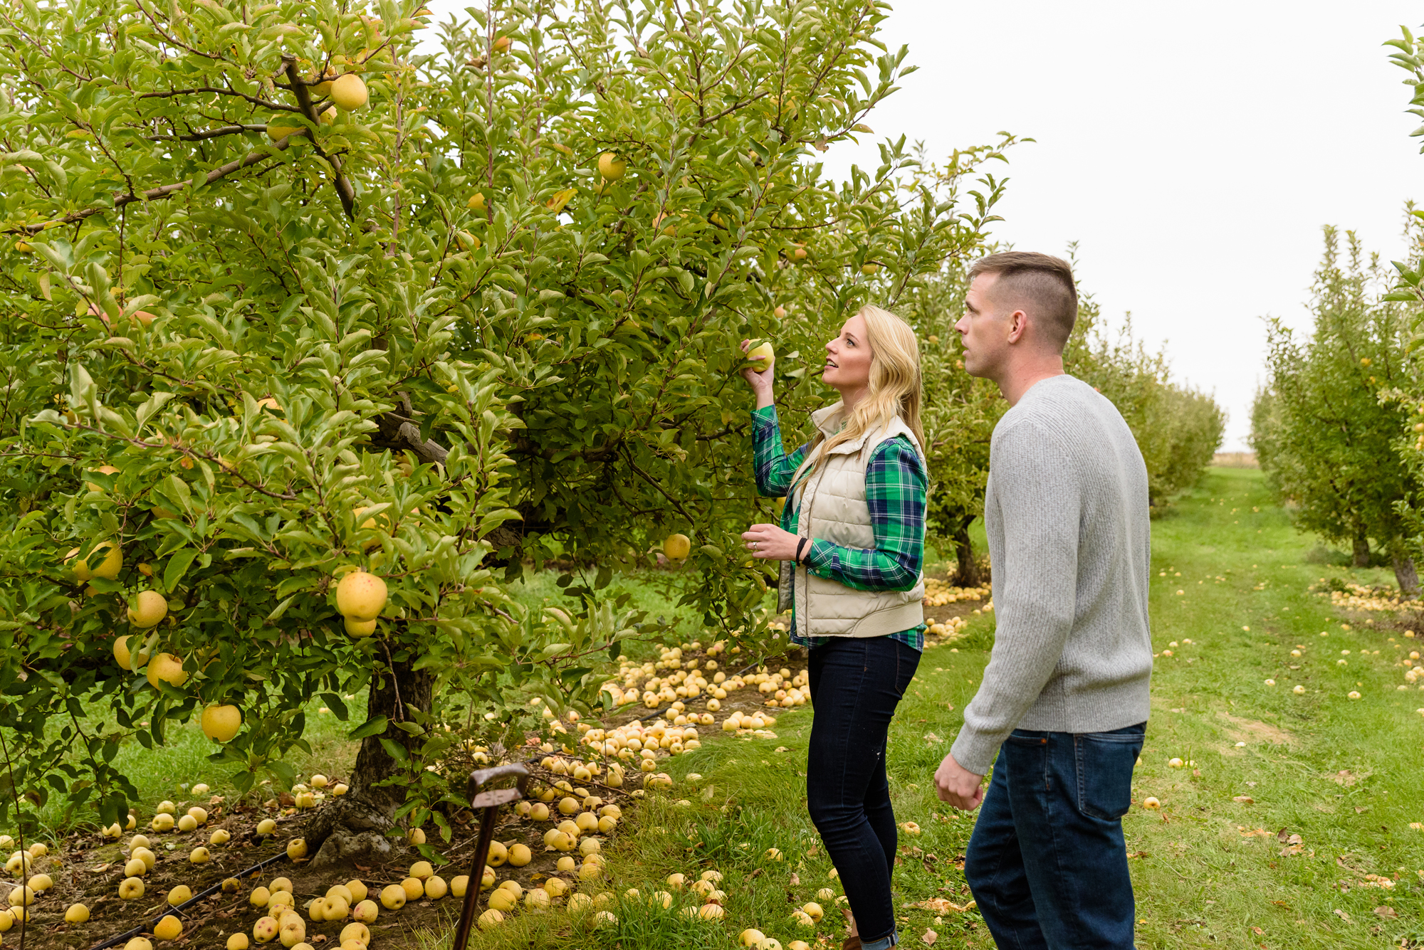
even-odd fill
[{"label": "leafy apple trees left of the grass lane, bearing yellow fruit", "polygon": [[[1015,139],[941,162],[886,141],[823,179],[819,154],[871,135],[911,68],[886,16],[0,11],[0,819],[56,798],[117,819],[137,794],[118,747],[218,704],[245,720],[214,755],[239,788],[289,778],[320,697],[360,749],[308,829],[318,860],[403,823],[449,833],[461,740],[521,744],[531,697],[607,698],[608,664],[654,631],[604,592],[672,532],[695,539],[685,603],[711,633],[775,647],[775,580],[738,543],[770,513],[738,341],[778,341],[803,422],[829,327],[864,301],[931,340],[936,523],[967,540],[1001,407],[948,327],[997,220],[987,162]],[[1166,493],[1215,444],[1209,401],[1092,340],[1074,365],[1131,405]],[[550,560],[591,567],[565,609],[521,606],[508,585]],[[375,620],[339,609],[352,570],[384,580]]]}]

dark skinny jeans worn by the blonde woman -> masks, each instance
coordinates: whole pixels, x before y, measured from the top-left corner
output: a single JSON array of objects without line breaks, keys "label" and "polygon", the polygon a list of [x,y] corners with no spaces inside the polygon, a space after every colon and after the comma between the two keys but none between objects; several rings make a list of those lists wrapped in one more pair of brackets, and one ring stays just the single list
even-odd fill
[{"label": "dark skinny jeans worn by the blonde woman", "polygon": [[886,734],[918,666],[920,653],[890,637],[836,637],[810,651],[806,806],[867,950],[897,941],[890,872],[899,842]]}]

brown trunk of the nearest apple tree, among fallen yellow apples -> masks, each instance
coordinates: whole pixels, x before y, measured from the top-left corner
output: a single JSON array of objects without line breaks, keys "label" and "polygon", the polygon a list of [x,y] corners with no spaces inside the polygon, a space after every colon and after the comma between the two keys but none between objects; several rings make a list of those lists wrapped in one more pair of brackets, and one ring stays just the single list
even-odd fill
[{"label": "brown trunk of the nearest apple tree, among fallen yellow apples", "polygon": [[379,784],[407,769],[380,741],[390,740],[414,758],[424,738],[396,728],[394,722],[410,720],[407,708],[429,712],[433,691],[431,671],[413,670],[410,660],[393,661],[390,670],[383,670],[372,680],[366,718],[384,715],[390,724],[384,732],[362,740],[356,752],[356,767],[352,769],[350,791],[342,798],[332,799],[308,823],[306,846],[308,853],[315,852],[313,868],[370,863],[390,855],[390,839],[386,832],[392,826],[396,809],[406,801],[406,786]]}]

